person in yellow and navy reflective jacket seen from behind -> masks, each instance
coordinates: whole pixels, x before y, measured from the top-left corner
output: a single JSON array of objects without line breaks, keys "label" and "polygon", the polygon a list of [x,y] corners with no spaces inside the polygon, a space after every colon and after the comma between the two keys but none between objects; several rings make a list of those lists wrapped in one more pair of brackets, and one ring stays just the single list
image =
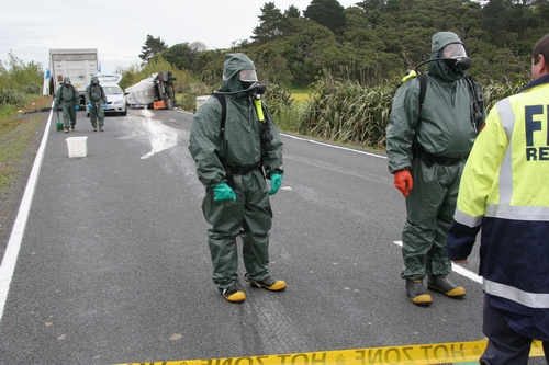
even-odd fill
[{"label": "person in yellow and navy reflective jacket seen from behind", "polygon": [[527,364],[533,339],[549,363],[549,34],[531,81],[495,104],[466,163],[448,258],[467,263],[481,230],[481,364]]}]

